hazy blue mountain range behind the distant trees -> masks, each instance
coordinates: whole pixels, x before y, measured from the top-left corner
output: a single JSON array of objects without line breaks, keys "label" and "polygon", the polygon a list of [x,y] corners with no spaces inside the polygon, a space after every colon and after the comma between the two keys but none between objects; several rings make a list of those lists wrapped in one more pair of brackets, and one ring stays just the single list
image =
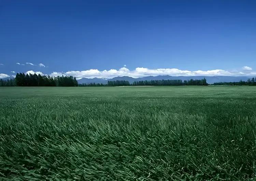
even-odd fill
[{"label": "hazy blue mountain range behind the distant trees", "polygon": [[108,81],[116,81],[116,80],[125,80],[129,81],[130,83],[134,81],[149,81],[149,80],[190,80],[190,79],[203,79],[205,78],[207,80],[207,83],[212,84],[215,82],[239,82],[240,80],[242,81],[247,81],[249,77],[231,77],[231,76],[147,76],[147,77],[140,77],[140,78],[132,78],[128,76],[123,76],[123,77],[114,77],[112,79],[106,79],[106,78],[93,78],[93,79],[88,79],[88,78],[82,78],[77,80],[78,83],[96,83],[96,84],[107,84]]}]

